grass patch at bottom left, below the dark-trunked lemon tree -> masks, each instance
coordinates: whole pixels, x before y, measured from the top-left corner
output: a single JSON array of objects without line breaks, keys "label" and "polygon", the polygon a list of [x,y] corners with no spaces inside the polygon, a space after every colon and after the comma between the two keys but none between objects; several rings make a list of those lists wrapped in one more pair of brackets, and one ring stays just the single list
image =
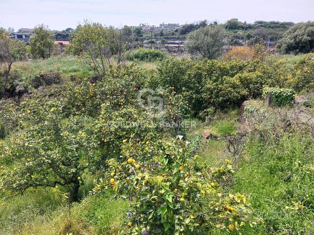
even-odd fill
[{"label": "grass patch at bottom left, below the dark-trunked lemon tree", "polygon": [[89,196],[72,205],[70,217],[67,206],[60,207],[51,216],[38,216],[23,228],[22,233],[120,234],[127,208],[127,201],[113,199],[110,194]]}]

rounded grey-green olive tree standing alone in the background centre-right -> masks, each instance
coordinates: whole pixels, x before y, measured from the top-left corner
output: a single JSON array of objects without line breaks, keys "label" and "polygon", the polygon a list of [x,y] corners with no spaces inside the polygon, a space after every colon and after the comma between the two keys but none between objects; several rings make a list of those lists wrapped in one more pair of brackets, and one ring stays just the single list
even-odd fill
[{"label": "rounded grey-green olive tree standing alone in the background centre-right", "polygon": [[220,25],[209,25],[191,32],[187,37],[186,48],[192,54],[215,59],[223,53],[225,30]]}]

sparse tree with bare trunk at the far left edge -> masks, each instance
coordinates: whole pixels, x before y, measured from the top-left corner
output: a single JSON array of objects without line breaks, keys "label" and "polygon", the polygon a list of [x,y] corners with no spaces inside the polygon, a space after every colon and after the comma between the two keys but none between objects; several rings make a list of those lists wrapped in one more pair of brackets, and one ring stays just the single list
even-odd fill
[{"label": "sparse tree with bare trunk at the far left edge", "polygon": [[9,74],[12,64],[22,60],[27,55],[26,43],[20,40],[12,40],[9,33],[0,29],[0,63],[5,65],[2,97],[6,97],[6,88],[9,82]]}]

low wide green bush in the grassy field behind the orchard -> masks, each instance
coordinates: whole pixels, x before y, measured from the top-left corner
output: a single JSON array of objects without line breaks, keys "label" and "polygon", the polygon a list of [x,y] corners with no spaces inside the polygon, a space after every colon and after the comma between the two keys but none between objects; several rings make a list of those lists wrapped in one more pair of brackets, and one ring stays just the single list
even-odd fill
[{"label": "low wide green bush in the grassy field behind the orchard", "polygon": [[139,61],[148,61],[153,62],[156,60],[163,60],[167,57],[167,54],[160,50],[152,50],[145,48],[138,48],[134,51],[131,51],[127,56],[128,60],[139,60]]}]

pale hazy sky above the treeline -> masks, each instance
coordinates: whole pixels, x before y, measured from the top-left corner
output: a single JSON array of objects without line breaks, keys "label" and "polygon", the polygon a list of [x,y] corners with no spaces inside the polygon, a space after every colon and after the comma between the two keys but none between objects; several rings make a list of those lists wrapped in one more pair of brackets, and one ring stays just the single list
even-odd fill
[{"label": "pale hazy sky above the treeline", "polygon": [[314,21],[314,0],[0,0],[0,27],[75,28],[84,19],[104,25]]}]

